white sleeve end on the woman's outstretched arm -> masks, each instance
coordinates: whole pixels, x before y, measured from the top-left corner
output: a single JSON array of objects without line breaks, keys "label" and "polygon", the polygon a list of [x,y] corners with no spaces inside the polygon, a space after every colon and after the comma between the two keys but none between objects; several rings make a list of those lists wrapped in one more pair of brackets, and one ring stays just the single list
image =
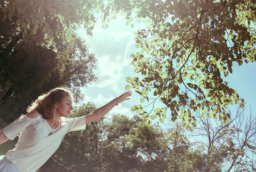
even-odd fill
[{"label": "white sleeve end on the woman's outstretched arm", "polygon": [[75,118],[69,118],[69,124],[68,124],[68,132],[70,131],[79,131],[86,128],[86,116],[83,117],[75,117]]}]

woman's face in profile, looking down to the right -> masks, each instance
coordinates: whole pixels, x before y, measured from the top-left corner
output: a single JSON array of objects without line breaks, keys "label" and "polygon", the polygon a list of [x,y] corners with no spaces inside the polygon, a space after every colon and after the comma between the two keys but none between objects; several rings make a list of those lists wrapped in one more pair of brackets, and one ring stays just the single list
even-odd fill
[{"label": "woman's face in profile, looking down to the right", "polygon": [[56,104],[56,113],[60,117],[68,117],[72,107],[72,98],[70,96],[64,96],[60,103]]}]

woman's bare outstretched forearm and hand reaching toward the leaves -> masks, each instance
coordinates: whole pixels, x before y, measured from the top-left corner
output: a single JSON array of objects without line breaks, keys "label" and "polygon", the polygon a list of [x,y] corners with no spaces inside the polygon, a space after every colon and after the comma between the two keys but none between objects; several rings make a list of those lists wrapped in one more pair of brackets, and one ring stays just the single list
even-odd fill
[{"label": "woman's bare outstretched forearm and hand reaching toward the leaves", "polygon": [[105,104],[99,109],[93,111],[93,113],[91,113],[90,115],[86,115],[86,124],[95,120],[99,120],[104,115],[106,115],[106,113],[108,113],[113,107],[115,107],[117,103],[122,103],[123,101],[128,100],[128,97],[130,97],[131,95],[131,91],[124,92],[124,94],[121,94],[120,96],[113,99],[113,101],[110,101],[108,104]]}]

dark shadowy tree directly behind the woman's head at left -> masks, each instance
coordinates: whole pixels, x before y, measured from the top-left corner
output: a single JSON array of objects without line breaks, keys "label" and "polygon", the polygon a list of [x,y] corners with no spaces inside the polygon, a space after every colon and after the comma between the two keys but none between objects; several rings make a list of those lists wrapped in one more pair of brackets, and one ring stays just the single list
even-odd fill
[{"label": "dark shadowy tree directly behind the woman's head at left", "polygon": [[[76,38],[67,57],[47,48],[20,43],[0,64],[1,117],[11,122],[26,113],[31,100],[54,87],[72,88],[75,100],[82,97],[79,87],[94,81],[95,57],[84,41]],[[65,48],[65,45],[63,45]],[[67,47],[68,48],[68,47]]]}]

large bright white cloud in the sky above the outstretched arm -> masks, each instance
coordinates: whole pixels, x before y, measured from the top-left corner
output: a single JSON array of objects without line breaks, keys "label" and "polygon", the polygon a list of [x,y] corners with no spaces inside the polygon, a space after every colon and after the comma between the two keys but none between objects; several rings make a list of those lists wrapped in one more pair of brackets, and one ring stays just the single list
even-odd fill
[{"label": "large bright white cloud in the sky above the outstretched arm", "polygon": [[[97,27],[99,28],[99,27]],[[131,47],[133,36],[129,31],[112,32],[106,29],[93,30],[93,36],[86,36],[84,31],[79,31],[90,45],[90,52],[97,58],[97,69],[94,71],[97,81],[92,87],[112,87],[120,93],[116,87],[123,76],[124,66],[131,64],[127,52]]]}]

